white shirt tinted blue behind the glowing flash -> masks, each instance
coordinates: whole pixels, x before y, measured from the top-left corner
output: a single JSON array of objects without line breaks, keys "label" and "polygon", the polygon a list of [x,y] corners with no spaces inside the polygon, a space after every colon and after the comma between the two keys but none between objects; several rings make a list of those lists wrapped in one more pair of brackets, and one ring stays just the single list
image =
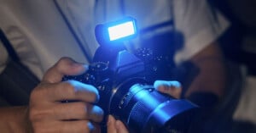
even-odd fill
[{"label": "white shirt tinted blue behind the glowing flash", "polygon": [[[174,20],[175,29],[184,36],[184,47],[175,54],[177,64],[207,47],[228,26],[220,14],[212,15],[203,0],[57,0],[57,4],[90,57],[98,46],[95,26],[121,18],[122,8],[137,19],[139,28]],[[39,78],[63,56],[88,63],[52,0],[1,0],[0,14],[0,26],[21,61]],[[3,69],[6,59],[0,59]]]}]

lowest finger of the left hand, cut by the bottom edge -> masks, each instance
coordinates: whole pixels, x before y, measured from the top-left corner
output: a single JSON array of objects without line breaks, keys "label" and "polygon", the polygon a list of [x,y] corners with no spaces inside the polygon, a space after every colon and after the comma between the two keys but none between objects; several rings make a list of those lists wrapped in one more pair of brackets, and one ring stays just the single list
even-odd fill
[{"label": "lowest finger of the left hand, cut by the bottom edge", "polygon": [[55,121],[45,123],[34,123],[34,132],[61,132],[61,133],[90,133],[99,130],[100,126],[89,120]]}]

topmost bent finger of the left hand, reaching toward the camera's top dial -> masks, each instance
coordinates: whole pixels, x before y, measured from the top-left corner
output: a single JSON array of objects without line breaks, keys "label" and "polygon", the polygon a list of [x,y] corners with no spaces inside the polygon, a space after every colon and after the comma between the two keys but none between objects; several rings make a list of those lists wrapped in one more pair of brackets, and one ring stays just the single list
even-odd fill
[{"label": "topmost bent finger of the left hand, reaching toward the camera's top dial", "polygon": [[49,68],[43,81],[56,83],[61,81],[63,75],[80,75],[88,69],[88,65],[79,64],[72,58],[61,58],[53,67]]}]

